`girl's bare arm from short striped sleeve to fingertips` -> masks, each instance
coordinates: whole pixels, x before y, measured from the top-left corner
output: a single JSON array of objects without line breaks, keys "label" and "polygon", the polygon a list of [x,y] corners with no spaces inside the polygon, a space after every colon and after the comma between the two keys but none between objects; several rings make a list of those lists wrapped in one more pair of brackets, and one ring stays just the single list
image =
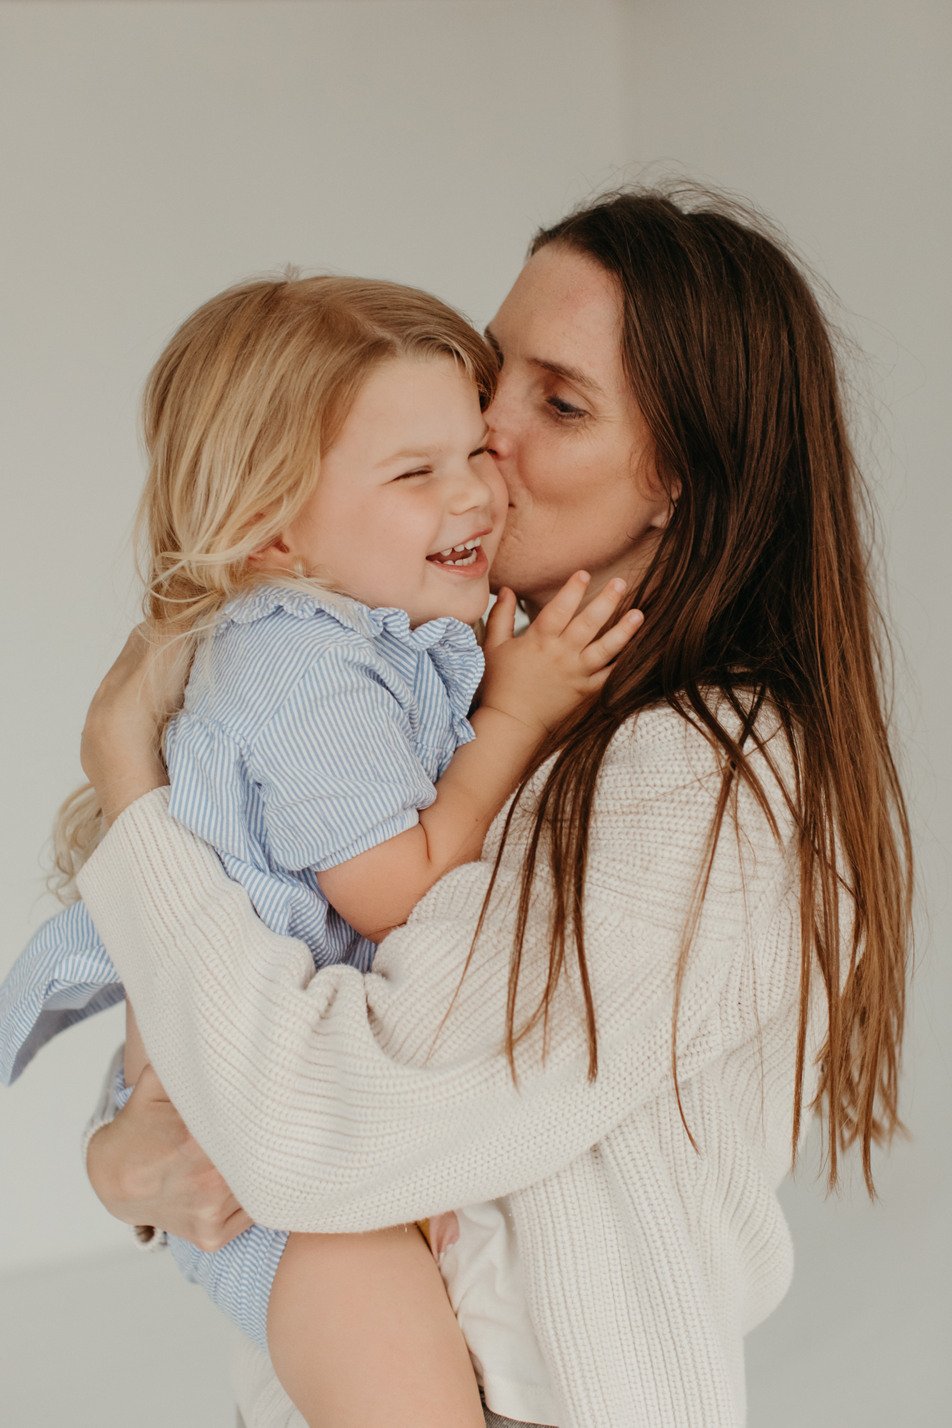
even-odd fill
[{"label": "girl's bare arm from short striped sleeve to fingertips", "polygon": [[489,617],[486,678],[472,718],[476,738],[457,748],[416,827],[319,873],[327,901],[379,942],[406,922],[450,868],[479,858],[489,825],[517,787],[545,734],[608,678],[610,661],[642,623],[640,611],[599,630],[625,593],[613,580],[576,614],[589,577],[576,573],[519,641],[515,595],[500,591]]}]

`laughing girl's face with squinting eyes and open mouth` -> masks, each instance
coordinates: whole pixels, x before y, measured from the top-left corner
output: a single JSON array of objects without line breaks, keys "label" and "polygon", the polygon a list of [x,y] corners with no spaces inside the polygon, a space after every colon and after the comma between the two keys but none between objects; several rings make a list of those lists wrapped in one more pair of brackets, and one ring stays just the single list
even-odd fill
[{"label": "laughing girl's face with squinting eyes and open mouth", "polygon": [[486,450],[479,394],[450,357],[395,358],[360,390],[297,520],[260,564],[329,577],[410,624],[489,604],[506,488]]}]

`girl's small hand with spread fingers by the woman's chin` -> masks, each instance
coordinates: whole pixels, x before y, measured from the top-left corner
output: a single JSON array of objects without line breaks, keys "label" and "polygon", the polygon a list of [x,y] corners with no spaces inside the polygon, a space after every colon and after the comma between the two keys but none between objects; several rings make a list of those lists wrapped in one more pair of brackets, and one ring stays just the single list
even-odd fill
[{"label": "girl's small hand with spread fingers by the woman's chin", "polygon": [[589,580],[587,571],[576,571],[519,640],[513,638],[516,597],[512,590],[500,590],[486,623],[482,707],[500,710],[532,725],[542,737],[576,704],[600,690],[612,661],[645,617],[640,610],[629,610],[599,635],[618,610],[626,585],[623,580],[609,580],[605,590],[579,610]]}]

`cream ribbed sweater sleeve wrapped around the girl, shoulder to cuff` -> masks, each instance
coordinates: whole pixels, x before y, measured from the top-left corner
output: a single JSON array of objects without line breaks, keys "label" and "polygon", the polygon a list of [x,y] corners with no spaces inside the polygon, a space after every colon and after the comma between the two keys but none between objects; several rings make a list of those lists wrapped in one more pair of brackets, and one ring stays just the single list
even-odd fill
[{"label": "cream ribbed sweater sleeve wrapped around the girl, shoulder to cuff", "polygon": [[[373,971],[313,972],[270,932],[166,793],[133,804],[81,874],[153,1064],[190,1131],[262,1224],[359,1231],[509,1194],[553,1174],[670,1075],[672,988],[708,843],[712,764],[685,724],[650,720],[602,771],[586,900],[599,1075],[587,1077],[577,978],[526,1037],[517,1084],[502,1050],[517,891],[507,854],[466,975],[490,865],[449,874],[382,944]],[[675,720],[675,724],[672,724]],[[639,721],[640,723],[640,721]],[[679,1074],[748,1034],[742,968],[766,938],[789,870],[742,810],[722,835],[682,991]],[[547,964],[539,894],[520,982],[525,1017]],[[742,1001],[742,1000],[740,1000]]]}]

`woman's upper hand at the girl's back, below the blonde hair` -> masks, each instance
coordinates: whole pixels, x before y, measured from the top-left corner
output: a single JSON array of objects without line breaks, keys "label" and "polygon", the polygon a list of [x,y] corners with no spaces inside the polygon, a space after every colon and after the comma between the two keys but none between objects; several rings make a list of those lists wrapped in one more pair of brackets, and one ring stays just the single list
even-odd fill
[{"label": "woman's upper hand at the girl's back, below the blonde hair", "polygon": [[182,705],[189,648],[189,641],[160,645],[137,625],[93,697],[80,758],[107,827],[136,798],[169,783],[159,734]]}]

